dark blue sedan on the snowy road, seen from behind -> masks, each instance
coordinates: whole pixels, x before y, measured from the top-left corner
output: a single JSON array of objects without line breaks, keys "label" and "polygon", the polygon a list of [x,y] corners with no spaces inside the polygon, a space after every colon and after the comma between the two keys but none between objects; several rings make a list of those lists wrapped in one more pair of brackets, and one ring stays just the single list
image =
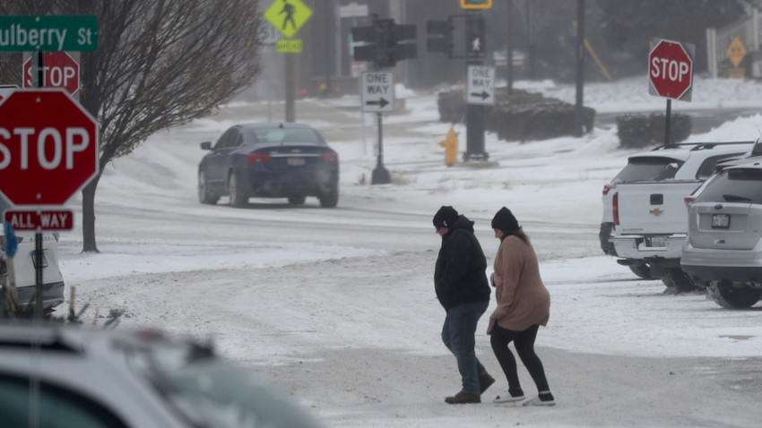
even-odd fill
[{"label": "dark blue sedan on the snowy road, seen from behind", "polygon": [[320,206],[339,201],[339,155],[307,124],[237,124],[222,134],[198,166],[198,201],[229,197],[232,207],[251,197],[288,198],[292,205],[315,196]]}]

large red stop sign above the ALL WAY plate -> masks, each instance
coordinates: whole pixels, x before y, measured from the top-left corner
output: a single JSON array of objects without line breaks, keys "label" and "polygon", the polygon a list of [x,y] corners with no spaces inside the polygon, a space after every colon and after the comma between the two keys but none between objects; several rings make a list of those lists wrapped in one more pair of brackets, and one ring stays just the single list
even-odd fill
[{"label": "large red stop sign above the ALL WAY plate", "polygon": [[98,124],[64,90],[0,103],[0,192],[13,205],[63,205],[98,174]]}]

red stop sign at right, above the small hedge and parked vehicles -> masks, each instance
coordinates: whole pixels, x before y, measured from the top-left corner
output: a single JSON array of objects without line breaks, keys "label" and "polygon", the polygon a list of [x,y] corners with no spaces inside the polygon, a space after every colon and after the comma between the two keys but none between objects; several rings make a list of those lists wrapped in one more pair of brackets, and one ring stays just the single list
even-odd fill
[{"label": "red stop sign at right, above the small hedge and parked vehicles", "polygon": [[657,95],[679,99],[693,84],[693,59],[682,43],[660,40],[648,55],[648,80]]}]

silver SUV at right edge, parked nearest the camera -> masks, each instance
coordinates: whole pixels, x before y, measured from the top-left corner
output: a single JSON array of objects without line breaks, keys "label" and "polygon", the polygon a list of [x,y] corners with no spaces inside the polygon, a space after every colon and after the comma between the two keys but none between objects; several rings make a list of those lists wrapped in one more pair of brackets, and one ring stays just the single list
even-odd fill
[{"label": "silver SUV at right edge, parked nearest the camera", "polygon": [[762,297],[762,161],[725,167],[698,189],[680,265],[725,308]]}]

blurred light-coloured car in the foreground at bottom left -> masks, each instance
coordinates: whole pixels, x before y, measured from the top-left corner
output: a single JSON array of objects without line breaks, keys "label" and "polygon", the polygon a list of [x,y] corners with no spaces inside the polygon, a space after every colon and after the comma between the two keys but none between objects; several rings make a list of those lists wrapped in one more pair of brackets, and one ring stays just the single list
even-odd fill
[{"label": "blurred light-coloured car in the foreground at bottom left", "polygon": [[209,344],[62,323],[0,323],[0,415],[8,427],[322,426]]}]

